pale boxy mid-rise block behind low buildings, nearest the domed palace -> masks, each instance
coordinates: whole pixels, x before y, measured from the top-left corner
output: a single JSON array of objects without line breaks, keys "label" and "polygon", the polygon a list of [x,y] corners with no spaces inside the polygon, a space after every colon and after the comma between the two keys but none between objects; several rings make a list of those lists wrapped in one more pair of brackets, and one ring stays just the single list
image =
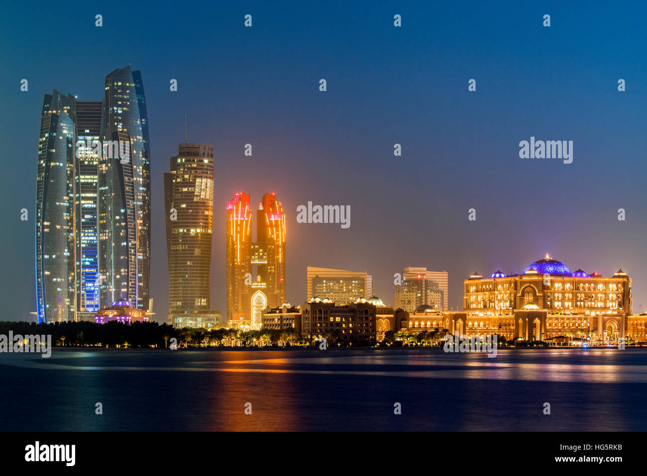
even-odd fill
[{"label": "pale boxy mid-rise block behind low buildings, nearest the domed palace", "polygon": [[[440,275],[443,278],[444,291],[441,290],[441,283],[429,278],[432,274]],[[447,273],[430,272],[427,268],[404,268],[402,282],[395,285],[394,307],[400,307],[407,312],[420,305],[431,305],[439,310],[446,310],[446,289]]]}]

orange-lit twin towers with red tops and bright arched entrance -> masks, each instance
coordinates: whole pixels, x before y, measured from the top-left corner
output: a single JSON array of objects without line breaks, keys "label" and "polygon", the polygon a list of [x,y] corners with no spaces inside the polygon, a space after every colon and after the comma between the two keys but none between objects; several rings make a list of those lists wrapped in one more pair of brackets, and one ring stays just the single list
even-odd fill
[{"label": "orange-lit twin towers with red tops and bright arched entrance", "polygon": [[256,218],[252,242],[249,194],[227,202],[227,319],[241,329],[260,329],[263,310],[285,302],[285,214],[274,193],[263,195]]}]

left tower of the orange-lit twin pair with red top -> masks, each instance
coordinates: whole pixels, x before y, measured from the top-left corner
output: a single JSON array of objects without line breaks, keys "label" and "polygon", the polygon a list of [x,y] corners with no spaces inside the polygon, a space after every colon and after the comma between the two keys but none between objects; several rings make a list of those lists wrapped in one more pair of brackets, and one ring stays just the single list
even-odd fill
[{"label": "left tower of the orange-lit twin pair with red top", "polygon": [[252,210],[248,193],[235,193],[227,202],[227,320],[250,318],[252,276]]}]

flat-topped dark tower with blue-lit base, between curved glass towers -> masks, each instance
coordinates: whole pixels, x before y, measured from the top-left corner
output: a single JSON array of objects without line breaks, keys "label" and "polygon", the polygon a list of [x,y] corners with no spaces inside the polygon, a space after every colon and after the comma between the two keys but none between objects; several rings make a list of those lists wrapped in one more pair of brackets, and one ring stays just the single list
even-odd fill
[{"label": "flat-topped dark tower with blue-lit base, between curved glass towers", "polygon": [[[74,161],[74,251],[76,320],[94,319],[99,310],[98,154],[102,133],[100,101],[76,101]],[[82,316],[85,316],[83,318]]]}]

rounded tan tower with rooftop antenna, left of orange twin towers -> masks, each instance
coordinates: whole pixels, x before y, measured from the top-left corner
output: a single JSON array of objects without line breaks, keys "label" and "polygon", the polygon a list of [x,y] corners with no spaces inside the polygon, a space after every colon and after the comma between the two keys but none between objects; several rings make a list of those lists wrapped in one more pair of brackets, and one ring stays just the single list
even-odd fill
[{"label": "rounded tan tower with rooftop antenna, left of orange twin towers", "polygon": [[169,316],[175,327],[212,327],[210,272],[214,220],[214,146],[179,144],[164,173]]}]

